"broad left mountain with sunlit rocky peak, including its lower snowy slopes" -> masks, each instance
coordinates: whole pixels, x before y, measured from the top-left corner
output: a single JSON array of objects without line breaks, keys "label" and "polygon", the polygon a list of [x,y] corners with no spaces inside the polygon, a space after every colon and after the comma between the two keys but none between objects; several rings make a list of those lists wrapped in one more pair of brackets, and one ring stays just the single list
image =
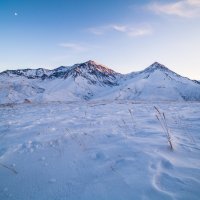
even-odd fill
[{"label": "broad left mountain with sunlit rocky peak, including its lower snowy slopes", "polygon": [[88,100],[117,86],[119,76],[94,61],[54,70],[9,70],[0,73],[0,103],[24,102],[25,99],[36,102]]}]

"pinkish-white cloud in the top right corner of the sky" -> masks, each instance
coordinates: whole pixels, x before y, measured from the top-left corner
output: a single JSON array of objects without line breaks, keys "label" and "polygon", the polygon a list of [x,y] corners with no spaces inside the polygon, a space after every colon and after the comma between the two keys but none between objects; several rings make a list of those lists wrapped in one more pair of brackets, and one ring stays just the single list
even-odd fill
[{"label": "pinkish-white cloud in the top right corner of the sky", "polygon": [[200,16],[199,0],[182,0],[173,3],[154,2],[147,8],[156,14],[174,15],[184,18],[195,18]]}]

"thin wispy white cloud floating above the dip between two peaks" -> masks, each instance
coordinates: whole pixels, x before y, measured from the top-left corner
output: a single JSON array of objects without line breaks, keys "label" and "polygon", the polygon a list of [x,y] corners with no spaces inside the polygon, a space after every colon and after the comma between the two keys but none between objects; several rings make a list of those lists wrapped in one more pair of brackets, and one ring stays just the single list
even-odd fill
[{"label": "thin wispy white cloud floating above the dip between two peaks", "polygon": [[139,37],[152,34],[153,30],[150,26],[130,26],[130,25],[119,25],[112,24],[101,27],[93,27],[88,29],[88,31],[95,35],[104,35],[108,32],[118,32],[123,33],[130,37]]}]

